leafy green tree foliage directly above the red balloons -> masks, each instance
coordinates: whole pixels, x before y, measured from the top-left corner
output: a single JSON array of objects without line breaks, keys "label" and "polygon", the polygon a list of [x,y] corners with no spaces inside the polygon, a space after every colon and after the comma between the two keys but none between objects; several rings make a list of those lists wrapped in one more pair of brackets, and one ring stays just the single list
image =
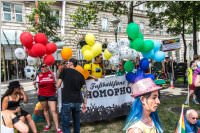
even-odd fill
[{"label": "leafy green tree foliage directly above the red balloons", "polygon": [[[57,32],[57,29],[60,27],[59,16],[52,14],[50,4],[51,3],[39,1],[38,8],[34,8],[33,12],[27,16],[32,25],[29,31],[45,33],[51,41],[61,41]],[[36,23],[35,20],[36,14],[38,14],[39,18],[38,23]]]}]

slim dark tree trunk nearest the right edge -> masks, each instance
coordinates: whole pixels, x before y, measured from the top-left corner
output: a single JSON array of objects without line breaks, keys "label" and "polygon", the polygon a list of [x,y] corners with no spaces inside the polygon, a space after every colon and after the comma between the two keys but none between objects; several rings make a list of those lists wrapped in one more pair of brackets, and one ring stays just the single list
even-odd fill
[{"label": "slim dark tree trunk nearest the right edge", "polygon": [[197,23],[196,23],[196,15],[195,15],[195,10],[193,9],[193,50],[194,50],[194,55],[197,55]]}]

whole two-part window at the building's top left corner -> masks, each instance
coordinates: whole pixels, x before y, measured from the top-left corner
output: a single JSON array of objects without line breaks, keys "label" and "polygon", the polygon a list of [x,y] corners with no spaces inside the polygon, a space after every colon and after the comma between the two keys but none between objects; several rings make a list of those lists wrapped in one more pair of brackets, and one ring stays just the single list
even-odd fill
[{"label": "whole two-part window at the building's top left corner", "polygon": [[3,20],[23,22],[22,10],[22,4],[3,2]]}]

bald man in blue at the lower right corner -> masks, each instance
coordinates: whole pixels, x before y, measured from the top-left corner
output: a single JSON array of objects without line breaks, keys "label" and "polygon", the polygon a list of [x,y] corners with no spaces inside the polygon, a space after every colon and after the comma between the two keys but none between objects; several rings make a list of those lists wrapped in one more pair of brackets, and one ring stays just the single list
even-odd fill
[{"label": "bald man in blue at the lower right corner", "polygon": [[185,130],[186,133],[198,133],[198,128],[200,128],[200,120],[198,120],[198,113],[194,109],[189,109],[186,111],[185,115]]}]

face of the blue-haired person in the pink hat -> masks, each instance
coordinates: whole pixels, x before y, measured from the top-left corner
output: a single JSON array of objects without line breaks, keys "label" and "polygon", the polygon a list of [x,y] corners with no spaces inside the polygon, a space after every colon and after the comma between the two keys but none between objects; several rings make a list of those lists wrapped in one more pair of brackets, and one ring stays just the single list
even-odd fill
[{"label": "face of the blue-haired person in the pink hat", "polygon": [[155,112],[160,104],[160,100],[158,98],[159,94],[158,91],[154,91],[150,94],[148,98],[145,96],[141,97],[141,101],[143,107],[148,112]]}]

